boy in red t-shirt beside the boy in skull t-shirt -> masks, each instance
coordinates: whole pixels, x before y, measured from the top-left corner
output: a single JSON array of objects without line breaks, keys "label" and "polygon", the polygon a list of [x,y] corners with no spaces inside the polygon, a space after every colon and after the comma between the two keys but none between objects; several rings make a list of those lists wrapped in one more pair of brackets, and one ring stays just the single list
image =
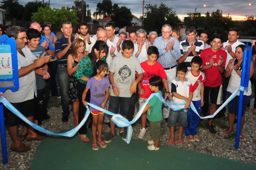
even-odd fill
[{"label": "boy in red t-shirt beside the boy in skull t-shirt", "polygon": [[[158,49],[155,46],[148,47],[147,56],[148,60],[141,63],[141,68],[145,70],[143,73],[143,79],[141,80],[141,83],[138,83],[139,88],[139,106],[140,108],[145,103],[145,101],[150,97],[151,94],[154,93],[154,91],[150,90],[150,83],[149,79],[154,76],[159,76],[163,80],[164,87],[166,89],[166,96],[171,98],[169,86],[167,83],[167,75],[165,73],[165,70],[163,69],[163,66],[156,61],[158,58],[159,52]],[[141,115],[141,131],[138,134],[138,138],[142,139],[146,133],[146,120],[147,120],[147,114],[143,113]]]}]

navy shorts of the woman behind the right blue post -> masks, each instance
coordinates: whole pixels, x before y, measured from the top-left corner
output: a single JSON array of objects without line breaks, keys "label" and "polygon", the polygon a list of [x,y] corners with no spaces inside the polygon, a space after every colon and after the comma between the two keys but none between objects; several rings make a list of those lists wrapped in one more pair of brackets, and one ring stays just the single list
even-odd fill
[{"label": "navy shorts of the woman behind the right blue post", "polygon": [[[232,93],[227,91],[227,98],[231,96]],[[245,108],[247,104],[250,102],[251,96],[243,95],[243,104],[242,104],[242,116],[245,115]],[[239,96],[236,96],[233,100],[228,103],[228,113],[238,115],[238,107],[239,107]]]}]

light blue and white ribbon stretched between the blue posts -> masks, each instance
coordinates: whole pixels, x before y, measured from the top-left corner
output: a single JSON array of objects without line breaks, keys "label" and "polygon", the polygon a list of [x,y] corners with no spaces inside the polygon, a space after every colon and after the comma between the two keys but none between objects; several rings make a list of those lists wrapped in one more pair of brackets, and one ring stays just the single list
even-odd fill
[{"label": "light blue and white ribbon stretched between the blue posts", "polygon": [[[197,110],[195,109],[195,106],[193,105],[193,103],[191,102],[190,103],[190,107],[191,109],[195,112],[195,114],[197,114],[201,119],[208,119],[208,118],[213,118],[215,115],[217,115],[217,113],[219,113],[219,111],[224,108],[238,93],[239,89],[236,89],[236,91],[234,91],[234,93],[226,100],[226,102],[224,102],[217,110],[216,112],[213,114],[213,115],[208,115],[206,117],[202,117],[200,116],[198,113],[197,113]],[[127,128],[127,136],[126,136],[126,140],[125,142],[127,144],[130,143],[130,140],[132,138],[132,124],[135,123],[139,117],[141,117],[141,114],[145,108],[145,106],[147,106],[149,100],[153,97],[153,96],[157,96],[161,102],[163,102],[163,104],[167,105],[169,108],[171,108],[172,110],[181,110],[181,109],[184,109],[184,104],[177,104],[177,103],[174,103],[174,102],[166,102],[164,100],[164,98],[160,95],[160,94],[152,94],[148,100],[143,104],[143,106],[141,107],[141,109],[139,110],[139,112],[135,115],[135,117],[132,119],[132,121],[128,121],[126,118],[124,118],[123,116],[121,116],[120,114],[115,114],[115,113],[112,113],[108,110],[105,110],[99,106],[96,106],[94,104],[91,104],[89,102],[87,102],[87,104],[93,108],[95,108],[96,110],[99,110],[99,111],[102,111],[108,115],[111,115],[112,118],[111,120],[118,126],[118,127],[128,127]],[[22,119],[24,122],[28,123],[28,125],[30,125],[31,127],[35,128],[36,130],[40,131],[40,132],[43,132],[43,133],[46,133],[46,134],[51,134],[51,135],[55,135],[55,136],[67,136],[67,137],[72,137],[74,136],[78,130],[82,127],[82,125],[85,124],[87,118],[89,117],[89,114],[90,114],[90,110],[89,110],[89,107],[86,106],[87,108],[87,111],[85,113],[85,117],[82,119],[82,121],[79,123],[78,126],[76,126],[74,129],[72,130],[69,130],[68,132],[65,132],[65,133],[54,133],[54,132],[51,132],[49,130],[46,130],[44,129],[43,127],[40,127],[39,125],[36,125],[35,123],[29,121],[24,115],[22,115],[22,113],[20,113],[19,110],[17,110],[10,102],[8,102],[4,97],[0,97],[0,102],[2,102],[4,104],[4,106],[6,106],[11,112],[13,112],[17,117],[19,117],[20,119]]]}]

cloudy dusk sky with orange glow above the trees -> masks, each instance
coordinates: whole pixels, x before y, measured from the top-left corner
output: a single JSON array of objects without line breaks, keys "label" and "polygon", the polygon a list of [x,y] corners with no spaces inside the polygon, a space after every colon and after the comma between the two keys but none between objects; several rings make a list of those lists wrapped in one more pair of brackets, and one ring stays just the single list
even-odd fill
[{"label": "cloudy dusk sky with orange glow above the trees", "polygon": [[[20,4],[26,4],[28,1],[33,0],[19,0]],[[48,2],[49,0],[44,0]],[[84,0],[89,4],[91,14],[95,12],[96,5],[102,0]],[[133,15],[139,17],[142,15],[143,0],[112,0],[112,3],[117,3],[118,6],[126,6],[130,8]],[[217,9],[222,10],[223,15],[229,15],[232,19],[243,20],[246,15],[256,15],[256,5],[249,6],[249,3],[256,4],[256,0],[145,0],[145,4],[157,4],[161,2],[168,7],[172,7],[173,11],[176,11],[180,19],[187,16],[187,13],[195,13],[195,7],[197,12],[202,15],[207,11],[212,13]],[[213,3],[214,2],[214,3]],[[72,6],[74,0],[50,0],[51,8],[61,8],[61,6]],[[206,7],[199,6],[206,4]]]}]

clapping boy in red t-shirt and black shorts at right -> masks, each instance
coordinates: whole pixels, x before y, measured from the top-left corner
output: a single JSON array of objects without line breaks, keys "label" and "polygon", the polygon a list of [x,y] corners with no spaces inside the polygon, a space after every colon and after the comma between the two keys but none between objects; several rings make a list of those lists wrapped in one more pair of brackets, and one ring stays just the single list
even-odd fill
[{"label": "clapping boy in red t-shirt and black shorts at right", "polygon": [[[201,71],[204,72],[206,82],[204,83],[204,114],[208,111],[209,94],[210,94],[210,113],[213,115],[217,110],[217,104],[222,104],[222,80],[221,73],[225,70],[227,53],[219,49],[223,43],[221,34],[214,34],[211,38],[211,46],[208,49],[201,51],[200,57],[203,60]],[[213,126],[213,118],[210,118],[207,123],[208,130],[216,134]]]}]

